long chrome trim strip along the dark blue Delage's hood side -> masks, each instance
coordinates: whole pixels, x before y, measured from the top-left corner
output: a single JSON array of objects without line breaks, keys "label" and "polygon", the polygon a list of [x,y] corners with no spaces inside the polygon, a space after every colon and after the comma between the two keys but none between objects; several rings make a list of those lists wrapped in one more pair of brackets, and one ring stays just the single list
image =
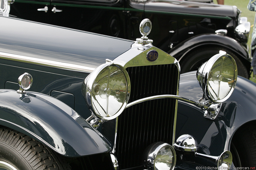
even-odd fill
[{"label": "long chrome trim strip along the dark blue Delage's hood side", "polygon": [[40,66],[49,66],[54,68],[74,70],[74,71],[80,71],[80,72],[86,72],[86,73],[91,73],[95,69],[95,68],[85,67],[77,64],[69,64],[69,63],[39,59],[34,57],[26,57],[26,56],[21,56],[16,54],[8,54],[3,52],[0,52],[0,59],[19,61],[24,63],[37,64]]}]

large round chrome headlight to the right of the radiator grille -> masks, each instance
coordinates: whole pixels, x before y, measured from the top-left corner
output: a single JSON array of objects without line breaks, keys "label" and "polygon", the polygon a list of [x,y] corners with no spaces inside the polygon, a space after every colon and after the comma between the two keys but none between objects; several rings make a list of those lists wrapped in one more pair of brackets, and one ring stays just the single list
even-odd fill
[{"label": "large round chrome headlight to the right of the radiator grille", "polygon": [[237,81],[235,60],[225,51],[220,51],[204,63],[197,71],[197,80],[205,97],[215,103],[227,100]]}]

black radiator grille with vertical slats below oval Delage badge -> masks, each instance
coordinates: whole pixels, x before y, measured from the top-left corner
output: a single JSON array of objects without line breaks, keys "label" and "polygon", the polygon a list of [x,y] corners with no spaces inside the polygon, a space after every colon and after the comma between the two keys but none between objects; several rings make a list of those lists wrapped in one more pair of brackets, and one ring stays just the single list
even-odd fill
[{"label": "black radiator grille with vertical slats below oval Delage badge", "polygon": [[[174,64],[129,67],[129,103],[141,98],[177,94]],[[135,104],[118,117],[116,155],[121,169],[142,165],[143,151],[157,141],[172,143],[175,100],[156,99]]]}]

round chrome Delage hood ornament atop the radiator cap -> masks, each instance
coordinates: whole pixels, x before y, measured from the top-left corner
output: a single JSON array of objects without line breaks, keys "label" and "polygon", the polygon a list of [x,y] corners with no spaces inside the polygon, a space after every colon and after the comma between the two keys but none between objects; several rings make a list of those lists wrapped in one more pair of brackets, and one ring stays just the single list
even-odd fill
[{"label": "round chrome Delage hood ornament atop the radiator cap", "polygon": [[147,35],[151,32],[152,23],[149,19],[144,19],[140,23],[140,33],[142,35],[141,38],[136,39],[137,44],[147,45],[153,43],[153,40],[148,39]]}]

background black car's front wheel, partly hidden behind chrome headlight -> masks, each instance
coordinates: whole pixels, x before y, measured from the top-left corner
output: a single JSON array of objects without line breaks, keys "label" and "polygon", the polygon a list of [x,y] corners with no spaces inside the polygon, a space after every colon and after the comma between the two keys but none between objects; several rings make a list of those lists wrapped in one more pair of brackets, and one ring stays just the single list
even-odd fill
[{"label": "background black car's front wheel, partly hidden behind chrome headlight", "polygon": [[189,71],[198,70],[198,68],[212,56],[219,54],[219,50],[226,51],[227,54],[231,55],[237,63],[238,75],[249,79],[249,75],[246,67],[243,65],[241,60],[227,49],[221,49],[218,47],[213,48],[201,48],[195,50],[186,56],[186,59],[180,63],[180,73],[186,73]]}]

